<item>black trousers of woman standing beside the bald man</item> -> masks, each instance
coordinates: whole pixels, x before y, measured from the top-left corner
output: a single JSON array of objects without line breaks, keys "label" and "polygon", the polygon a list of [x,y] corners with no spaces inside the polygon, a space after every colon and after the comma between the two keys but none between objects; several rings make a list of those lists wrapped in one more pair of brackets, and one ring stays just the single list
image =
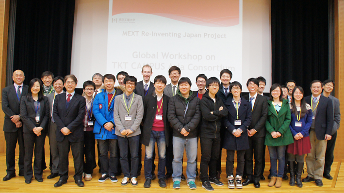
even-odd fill
[{"label": "black trousers of woman standing beside the bald man", "polygon": [[[43,174],[42,155],[46,136],[44,133],[40,136],[37,136],[34,133],[23,133],[23,137],[25,143],[24,177],[26,180],[32,179],[34,172],[34,177],[41,179]],[[33,152],[34,161],[32,167]]]}]

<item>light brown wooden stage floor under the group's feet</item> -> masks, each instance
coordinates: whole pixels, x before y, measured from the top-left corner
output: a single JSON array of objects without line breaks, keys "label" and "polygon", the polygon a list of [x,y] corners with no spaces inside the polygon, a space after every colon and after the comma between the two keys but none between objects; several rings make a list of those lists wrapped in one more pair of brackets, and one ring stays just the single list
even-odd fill
[{"label": "light brown wooden stage floor under the group's feet", "polygon": [[[49,158],[46,158],[46,161],[49,161]],[[190,190],[185,181],[182,181],[180,184],[180,190],[172,189],[173,182],[172,180],[167,181],[166,188],[160,188],[158,184],[158,179],[152,181],[150,188],[144,188],[143,184],[145,182],[144,177],[144,169],[141,171],[141,176],[138,177],[139,185],[137,187],[132,187],[130,184],[126,187],[121,187],[120,181],[123,175],[118,177],[118,182],[112,183],[110,180],[106,180],[103,183],[98,182],[98,178],[100,174],[98,173],[98,167],[94,170],[92,175],[92,180],[87,181],[85,183],[85,187],[77,187],[74,183],[73,175],[74,175],[74,167],[73,167],[73,160],[69,159],[69,179],[68,183],[63,185],[59,188],[54,188],[53,185],[55,182],[58,181],[59,177],[54,179],[47,179],[49,176],[50,171],[46,169],[43,174],[43,182],[37,182],[36,180],[32,180],[31,184],[25,184],[24,177],[16,176],[9,181],[2,181],[2,177],[6,175],[6,162],[5,156],[0,156],[0,193],[172,193],[172,192],[208,192],[202,188],[202,183],[199,181],[199,178],[196,179],[197,190]],[[157,163],[156,163],[157,164]],[[199,163],[198,163],[199,164]],[[221,180],[224,182],[224,186],[215,186],[215,192],[228,192],[228,191],[239,191],[241,193],[344,193],[344,165],[341,167],[342,162],[336,161],[333,163],[331,168],[331,176],[334,178],[333,180],[323,179],[324,186],[317,187],[314,182],[310,183],[303,183],[303,188],[298,188],[296,186],[292,187],[289,186],[289,180],[282,181],[281,188],[275,187],[268,187],[267,184],[269,182],[268,179],[261,180],[261,188],[254,188],[252,184],[248,186],[244,186],[242,190],[229,190],[227,188],[227,180],[226,180],[226,173],[223,172],[221,174]],[[47,162],[49,165],[49,162]],[[18,175],[18,167],[17,167],[17,160],[16,160],[16,175]],[[186,167],[186,163],[184,164],[184,168]],[[305,165],[306,167],[306,165]],[[266,163],[264,176],[267,177],[268,171],[270,168],[270,163]],[[235,168],[234,168],[235,169]],[[225,162],[222,163],[222,171],[225,171]],[[185,173],[185,169],[184,169]],[[156,172],[157,174],[157,172]],[[288,174],[289,176],[289,174]],[[305,174],[302,175],[302,178],[306,177],[307,173],[305,170]]]}]

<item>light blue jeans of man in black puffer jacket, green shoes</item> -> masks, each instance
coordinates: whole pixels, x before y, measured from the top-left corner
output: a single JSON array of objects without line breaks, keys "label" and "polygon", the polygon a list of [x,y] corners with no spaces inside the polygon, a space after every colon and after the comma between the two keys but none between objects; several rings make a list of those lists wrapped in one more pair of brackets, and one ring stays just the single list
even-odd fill
[{"label": "light blue jeans of man in black puffer jacket, green shoes", "polygon": [[195,138],[180,138],[173,136],[173,181],[181,181],[181,169],[183,163],[181,159],[183,158],[184,148],[186,151],[187,166],[186,175],[187,182],[195,181],[196,178],[196,158],[197,158],[197,137]]}]

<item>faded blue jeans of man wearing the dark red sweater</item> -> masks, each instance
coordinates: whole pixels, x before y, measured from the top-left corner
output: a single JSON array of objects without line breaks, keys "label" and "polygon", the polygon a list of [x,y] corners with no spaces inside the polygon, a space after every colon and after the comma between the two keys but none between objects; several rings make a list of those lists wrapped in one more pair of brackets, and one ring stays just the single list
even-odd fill
[{"label": "faded blue jeans of man wearing the dark red sweater", "polygon": [[165,131],[155,131],[150,132],[149,146],[146,146],[145,155],[145,177],[146,179],[152,179],[152,162],[153,162],[153,152],[155,147],[155,142],[158,146],[159,164],[158,164],[158,178],[165,177],[165,167],[166,167],[166,142],[165,142]]}]

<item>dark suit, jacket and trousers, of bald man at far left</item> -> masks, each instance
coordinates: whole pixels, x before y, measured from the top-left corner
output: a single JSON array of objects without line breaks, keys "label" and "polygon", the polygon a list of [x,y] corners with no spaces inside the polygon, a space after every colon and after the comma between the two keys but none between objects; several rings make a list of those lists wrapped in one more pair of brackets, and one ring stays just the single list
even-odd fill
[{"label": "dark suit, jacket and trousers, of bald man at far left", "polygon": [[[23,85],[21,96],[28,94],[28,85]],[[12,115],[20,114],[20,101],[16,95],[16,88],[14,84],[2,89],[2,111],[5,113],[3,123],[3,131],[5,131],[6,140],[6,165],[7,174],[16,173],[16,143],[19,145],[19,176],[24,175],[24,140],[23,140],[23,127],[16,128],[16,124],[11,121]]]}]

